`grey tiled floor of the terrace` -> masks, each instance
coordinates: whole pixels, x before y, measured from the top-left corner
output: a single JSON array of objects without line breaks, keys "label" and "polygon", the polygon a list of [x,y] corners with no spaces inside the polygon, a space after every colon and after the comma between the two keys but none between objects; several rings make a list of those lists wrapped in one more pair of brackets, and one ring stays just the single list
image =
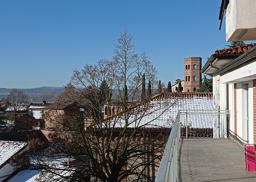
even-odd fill
[{"label": "grey tiled floor of the terrace", "polygon": [[182,139],[179,156],[182,182],[256,182],[245,168],[244,149],[231,139]]}]

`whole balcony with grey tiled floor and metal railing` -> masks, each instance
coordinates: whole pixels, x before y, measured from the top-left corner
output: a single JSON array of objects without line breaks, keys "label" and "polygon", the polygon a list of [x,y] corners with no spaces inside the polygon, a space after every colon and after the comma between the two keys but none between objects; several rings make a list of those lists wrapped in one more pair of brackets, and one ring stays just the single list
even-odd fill
[{"label": "whole balcony with grey tiled floor and metal railing", "polygon": [[[228,116],[228,111],[180,111],[155,181],[256,181],[256,171],[245,168],[244,149],[221,129],[221,122],[228,120]],[[219,125],[212,128],[212,134],[211,130],[191,127],[195,124],[193,120],[201,122],[199,118],[213,119]]]}]

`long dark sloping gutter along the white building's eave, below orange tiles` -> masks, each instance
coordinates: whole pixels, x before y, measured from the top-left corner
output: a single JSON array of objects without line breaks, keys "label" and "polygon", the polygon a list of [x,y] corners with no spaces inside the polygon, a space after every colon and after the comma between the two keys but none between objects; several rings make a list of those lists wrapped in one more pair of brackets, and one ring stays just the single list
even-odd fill
[{"label": "long dark sloping gutter along the white building's eave, below orange tiles", "polygon": [[219,70],[217,70],[216,72],[214,72],[214,74],[218,75],[218,74],[224,73],[225,71],[227,71],[229,69],[235,68],[236,66],[239,66],[242,63],[245,63],[247,61],[252,61],[254,59],[256,59],[256,46],[254,46],[249,51],[245,52],[238,58],[234,59],[233,61],[231,61],[224,67],[222,67]]}]

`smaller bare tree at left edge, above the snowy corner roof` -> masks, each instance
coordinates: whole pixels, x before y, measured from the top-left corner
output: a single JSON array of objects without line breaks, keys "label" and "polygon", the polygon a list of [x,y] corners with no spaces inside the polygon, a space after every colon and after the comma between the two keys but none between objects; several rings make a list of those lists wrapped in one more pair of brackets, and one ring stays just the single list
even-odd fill
[{"label": "smaller bare tree at left edge, above the snowy corner roof", "polygon": [[13,89],[6,99],[1,100],[1,103],[7,108],[5,128],[13,140],[15,133],[22,128],[23,123],[19,123],[19,119],[28,108],[29,98],[24,92]]}]

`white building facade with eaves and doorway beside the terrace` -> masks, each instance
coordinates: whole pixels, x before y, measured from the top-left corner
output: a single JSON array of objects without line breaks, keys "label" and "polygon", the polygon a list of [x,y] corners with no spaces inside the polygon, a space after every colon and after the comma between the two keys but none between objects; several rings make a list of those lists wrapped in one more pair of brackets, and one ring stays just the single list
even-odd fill
[{"label": "white building facade with eaves and doorway beside the terrace", "polygon": [[243,50],[233,60],[228,55],[234,52],[218,50],[223,56],[212,55],[202,72],[213,74],[214,109],[230,110],[230,117],[222,118],[218,127],[239,143],[247,144],[256,143],[256,46],[244,45]]}]

